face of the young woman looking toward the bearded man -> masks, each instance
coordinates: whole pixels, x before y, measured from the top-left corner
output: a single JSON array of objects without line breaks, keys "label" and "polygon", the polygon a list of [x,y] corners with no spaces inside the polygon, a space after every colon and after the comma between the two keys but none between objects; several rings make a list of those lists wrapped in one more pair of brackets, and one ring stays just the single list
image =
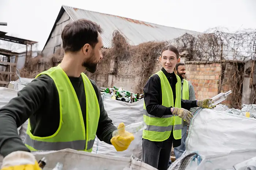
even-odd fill
[{"label": "face of the young woman looking toward the bearded man", "polygon": [[180,58],[177,59],[177,55],[174,52],[170,50],[165,50],[162,52],[160,61],[163,68],[165,68],[168,73],[172,73],[176,64],[180,62]]}]

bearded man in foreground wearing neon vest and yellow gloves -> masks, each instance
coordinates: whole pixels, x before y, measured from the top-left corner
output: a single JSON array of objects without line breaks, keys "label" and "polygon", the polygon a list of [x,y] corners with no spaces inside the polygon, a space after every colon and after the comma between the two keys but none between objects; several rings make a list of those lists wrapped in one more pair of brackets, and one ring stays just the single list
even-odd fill
[{"label": "bearded man in foreground wearing neon vest and yellow gloves", "polygon": [[[120,123],[118,135],[112,137],[117,128],[105,111],[100,90],[83,73],[94,73],[103,58],[101,33],[98,24],[86,19],[65,25],[61,63],[38,74],[0,109],[1,170],[39,170],[30,151],[70,148],[91,152],[96,135],[117,151],[128,148],[133,135]],[[27,119],[24,144],[17,128]]]}]

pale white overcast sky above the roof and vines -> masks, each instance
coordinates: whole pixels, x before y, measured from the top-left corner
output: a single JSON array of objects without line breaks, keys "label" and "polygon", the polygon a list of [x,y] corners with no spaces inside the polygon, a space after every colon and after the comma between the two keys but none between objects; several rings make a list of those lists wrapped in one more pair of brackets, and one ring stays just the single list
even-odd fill
[{"label": "pale white overcast sky above the roof and vines", "polygon": [[0,22],[8,23],[0,31],[38,41],[42,50],[61,5],[199,32],[256,29],[256,0],[0,0]]}]

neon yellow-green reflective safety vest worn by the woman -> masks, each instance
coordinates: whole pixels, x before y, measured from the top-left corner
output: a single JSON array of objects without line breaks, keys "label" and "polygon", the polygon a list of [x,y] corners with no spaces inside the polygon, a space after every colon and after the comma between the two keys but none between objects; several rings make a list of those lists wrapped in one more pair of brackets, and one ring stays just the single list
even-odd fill
[{"label": "neon yellow-green reflective safety vest worn by the woman", "polygon": [[[176,99],[175,106],[173,103],[173,91],[163,71],[156,73],[161,81],[162,105],[165,107],[181,108],[181,80],[176,75]],[[182,119],[176,115],[163,115],[161,118],[148,114],[144,102],[143,119],[147,127],[143,130],[142,138],[150,141],[165,141],[170,137],[173,130],[174,139],[181,139],[181,122]]]}]

